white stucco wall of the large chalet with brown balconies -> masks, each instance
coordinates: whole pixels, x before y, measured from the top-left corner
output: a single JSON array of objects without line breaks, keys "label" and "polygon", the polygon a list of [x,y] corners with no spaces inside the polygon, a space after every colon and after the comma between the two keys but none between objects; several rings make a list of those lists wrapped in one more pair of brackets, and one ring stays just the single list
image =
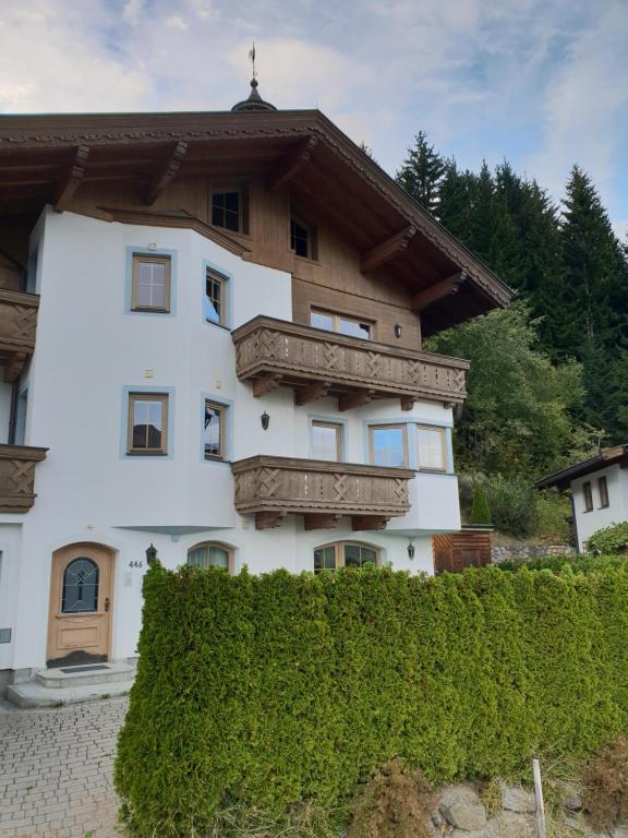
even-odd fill
[{"label": "white stucco wall of the large chalet with brown balconies", "polygon": [[[0,582],[0,627],[5,619],[14,628],[12,644],[0,645],[0,668],[44,665],[51,553],[77,541],[117,551],[113,658],[135,654],[146,567],[130,563],[145,561],[150,542],[160,561],[176,567],[192,546],[225,541],[235,550],[237,571],[246,564],[258,573],[279,566],[311,571],[315,547],[351,539],[378,547],[384,563],[433,572],[430,535],[459,526],[452,474],[418,475],[409,514],[384,531],[351,532],[350,522],[342,519],[335,530],[306,532],[293,516],[278,529],[257,531],[252,517],[234,511],[229,464],[202,457],[204,396],[230,405],[234,459],[311,457],[312,418],[345,423],[346,459],[354,463],[367,462],[370,421],[451,427],[451,410],[439,404],[419,403],[401,412],[398,400],[386,399],[339,414],[334,399],[294,407],[288,388],[254,398],[251,386],[235,378],[230,332],[203,319],[205,264],[230,277],[233,327],[257,314],[291,320],[289,274],[243,261],[193,231],[108,224],[71,213],[47,213],[35,239],[41,300],[27,374],[25,443],[49,452],[36,469],[33,510],[0,515],[0,549],[5,538],[12,568]],[[128,250],[149,246],[173,254],[170,315],[125,312]],[[169,392],[169,456],[125,455],[124,387]],[[259,421],[264,411],[270,416],[267,431]],[[415,547],[412,561],[409,537]],[[2,606],[1,596],[9,604]]]}]

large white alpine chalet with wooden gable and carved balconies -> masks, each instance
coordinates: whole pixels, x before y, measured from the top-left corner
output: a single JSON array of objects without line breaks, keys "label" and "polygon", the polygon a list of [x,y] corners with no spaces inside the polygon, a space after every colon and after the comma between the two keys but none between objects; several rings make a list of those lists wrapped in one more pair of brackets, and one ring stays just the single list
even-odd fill
[{"label": "large white alpine chalet with wooden gable and carved balconies", "polygon": [[132,658],[155,550],[433,572],[468,363],[421,340],[510,292],[367,155],[253,85],[1,117],[0,170],[4,684]]}]

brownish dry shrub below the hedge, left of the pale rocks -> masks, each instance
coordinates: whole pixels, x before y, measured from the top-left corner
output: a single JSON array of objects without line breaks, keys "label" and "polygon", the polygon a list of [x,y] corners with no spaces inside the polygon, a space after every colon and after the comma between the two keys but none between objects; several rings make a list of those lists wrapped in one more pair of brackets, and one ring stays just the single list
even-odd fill
[{"label": "brownish dry shrub below the hedge, left of the pale rocks", "polygon": [[348,838],[430,838],[431,797],[420,770],[391,759],[354,801]]}]

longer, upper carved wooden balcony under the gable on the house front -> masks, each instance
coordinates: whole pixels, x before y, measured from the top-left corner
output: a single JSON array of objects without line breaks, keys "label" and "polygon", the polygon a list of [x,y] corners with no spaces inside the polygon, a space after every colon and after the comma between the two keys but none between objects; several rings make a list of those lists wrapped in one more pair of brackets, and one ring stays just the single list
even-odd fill
[{"label": "longer, upper carved wooden balcony under the gable on the house front", "polygon": [[469,361],[375,344],[335,332],[258,316],[232,333],[237,373],[263,396],[278,386],[294,388],[305,405],[337,396],[348,410],[373,398],[399,398],[402,410],[419,399],[462,404]]}]

